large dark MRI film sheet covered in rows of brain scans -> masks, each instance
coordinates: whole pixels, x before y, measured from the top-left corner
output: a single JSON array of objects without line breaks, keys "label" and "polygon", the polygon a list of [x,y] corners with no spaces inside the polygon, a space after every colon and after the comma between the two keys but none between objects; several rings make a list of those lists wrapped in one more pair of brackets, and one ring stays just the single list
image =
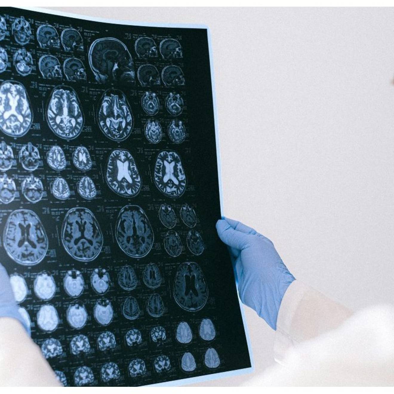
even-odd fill
[{"label": "large dark MRI film sheet covered in rows of brain scans", "polygon": [[3,7],[0,48],[0,261],[59,381],[250,370],[207,28]]}]

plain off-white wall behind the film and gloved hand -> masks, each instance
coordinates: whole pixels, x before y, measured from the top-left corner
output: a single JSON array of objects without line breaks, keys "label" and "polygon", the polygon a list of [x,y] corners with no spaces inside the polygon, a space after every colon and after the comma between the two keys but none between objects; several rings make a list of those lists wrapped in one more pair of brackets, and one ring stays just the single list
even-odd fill
[{"label": "plain off-white wall behind the film and gloved hand", "polygon": [[[393,8],[56,9],[207,24],[225,215],[348,307],[394,302]],[[273,362],[274,332],[245,314],[258,374]]]}]

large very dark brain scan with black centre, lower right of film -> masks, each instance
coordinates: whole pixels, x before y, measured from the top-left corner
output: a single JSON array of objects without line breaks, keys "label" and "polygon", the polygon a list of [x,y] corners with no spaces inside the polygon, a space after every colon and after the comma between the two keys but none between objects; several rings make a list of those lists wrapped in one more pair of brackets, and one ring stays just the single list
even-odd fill
[{"label": "large very dark brain scan with black centre, lower right of film", "polygon": [[208,299],[208,287],[198,264],[180,264],[175,274],[174,298],[182,309],[189,312],[196,312],[204,307]]}]

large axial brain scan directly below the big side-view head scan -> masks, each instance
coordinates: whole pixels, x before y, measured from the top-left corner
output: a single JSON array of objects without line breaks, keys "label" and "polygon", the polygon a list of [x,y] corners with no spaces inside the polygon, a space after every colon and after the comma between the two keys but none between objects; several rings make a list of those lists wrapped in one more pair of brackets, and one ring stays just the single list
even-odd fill
[{"label": "large axial brain scan directly below the big side-view head scan", "polygon": [[125,94],[117,89],[104,92],[97,114],[101,131],[113,141],[124,141],[133,129],[134,118]]}]

